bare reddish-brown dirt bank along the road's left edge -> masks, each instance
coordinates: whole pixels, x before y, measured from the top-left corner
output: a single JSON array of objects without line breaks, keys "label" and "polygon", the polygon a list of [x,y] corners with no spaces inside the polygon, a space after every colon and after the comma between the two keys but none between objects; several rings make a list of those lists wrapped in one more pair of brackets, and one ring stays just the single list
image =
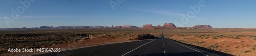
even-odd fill
[{"label": "bare reddish-brown dirt bank along the road's left edge", "polygon": [[[77,49],[82,47],[88,47],[88,46],[94,46],[94,45],[100,45],[100,44],[111,44],[111,43],[118,43],[118,42],[126,42],[131,41],[129,39],[134,37],[127,37],[127,38],[116,38],[116,37],[99,37],[94,39],[88,39],[88,40],[82,40],[78,42],[72,42],[72,43],[66,43],[66,44],[60,44],[60,45],[54,45],[49,47],[42,47],[42,48],[61,48],[61,51],[64,50],[70,50],[70,49]],[[34,52],[11,52],[2,54],[3,56],[7,55],[34,55],[34,54],[42,54],[46,52],[41,53],[34,53]]]}]

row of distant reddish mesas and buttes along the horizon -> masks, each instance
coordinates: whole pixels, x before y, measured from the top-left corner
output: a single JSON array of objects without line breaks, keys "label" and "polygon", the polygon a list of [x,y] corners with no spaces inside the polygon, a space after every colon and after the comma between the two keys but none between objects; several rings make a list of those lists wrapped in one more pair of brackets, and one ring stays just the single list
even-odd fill
[{"label": "row of distant reddish mesas and buttes along the horizon", "polygon": [[[35,27],[38,28],[38,27]],[[123,26],[41,26],[40,28],[68,28],[68,29],[74,29],[74,28],[139,28],[137,26],[132,26],[132,25],[123,25]],[[210,25],[195,25],[193,27],[176,27],[173,23],[165,23],[163,26],[157,25],[157,26],[152,26],[152,24],[146,24],[143,25],[143,29],[160,29],[160,28],[178,28],[178,29],[211,29],[212,26]],[[1,28],[0,28],[1,29]],[[31,28],[2,28],[2,29],[31,29]]]}]

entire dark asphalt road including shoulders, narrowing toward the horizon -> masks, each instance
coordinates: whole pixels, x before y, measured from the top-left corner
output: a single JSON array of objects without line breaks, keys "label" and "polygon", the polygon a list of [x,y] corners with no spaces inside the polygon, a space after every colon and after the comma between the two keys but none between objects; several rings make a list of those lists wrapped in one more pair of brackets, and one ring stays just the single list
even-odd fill
[{"label": "entire dark asphalt road including shoulders, narrowing toward the horizon", "polygon": [[[223,54],[223,53],[222,53]],[[106,44],[92,46],[62,52],[52,52],[48,55],[71,55],[71,56],[222,56],[220,53],[210,52],[195,48],[190,45],[179,43],[168,38],[164,38],[163,29],[160,38],[152,40],[142,40],[124,42],[116,44]],[[225,54],[225,53],[224,53]],[[225,54],[230,55],[230,54]]]}]

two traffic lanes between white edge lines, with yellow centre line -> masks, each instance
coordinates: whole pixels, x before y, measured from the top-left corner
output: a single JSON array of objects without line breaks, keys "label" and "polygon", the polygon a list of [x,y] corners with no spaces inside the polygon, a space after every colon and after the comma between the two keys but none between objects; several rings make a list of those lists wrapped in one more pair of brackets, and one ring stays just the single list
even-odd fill
[{"label": "two traffic lanes between white edge lines, with yellow centre line", "polygon": [[[194,47],[186,46],[177,43],[168,38],[164,38],[163,29],[161,38],[152,40],[141,47],[138,47],[124,54],[125,56],[140,55],[140,56],[216,56],[217,54],[200,50]],[[218,55],[217,55],[218,56]]]}]

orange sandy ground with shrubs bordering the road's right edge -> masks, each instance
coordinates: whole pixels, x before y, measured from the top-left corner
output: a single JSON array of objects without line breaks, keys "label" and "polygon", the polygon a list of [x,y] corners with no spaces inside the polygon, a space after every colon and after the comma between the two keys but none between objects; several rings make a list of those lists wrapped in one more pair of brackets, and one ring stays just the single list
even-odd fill
[{"label": "orange sandy ground with shrubs bordering the road's right edge", "polygon": [[256,47],[256,40],[253,40],[252,38],[240,37],[240,39],[234,39],[228,37],[217,37],[217,39],[214,39],[214,37],[211,36],[206,37],[202,38],[194,35],[173,35],[169,38],[183,43],[192,44],[237,56],[253,56],[256,54],[256,50],[253,49]]}]

